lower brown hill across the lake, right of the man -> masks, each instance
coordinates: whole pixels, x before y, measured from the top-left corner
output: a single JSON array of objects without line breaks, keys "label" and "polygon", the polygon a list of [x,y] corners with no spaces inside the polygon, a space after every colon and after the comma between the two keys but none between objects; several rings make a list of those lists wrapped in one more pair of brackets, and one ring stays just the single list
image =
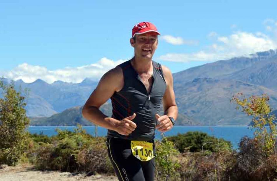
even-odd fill
[{"label": "lower brown hill across the lake, right of the man", "polygon": [[237,80],[197,78],[176,85],[174,89],[179,112],[202,125],[247,125],[251,119],[230,102],[238,92],[243,92],[246,97],[267,93],[271,97],[270,105],[277,108],[276,91]]}]

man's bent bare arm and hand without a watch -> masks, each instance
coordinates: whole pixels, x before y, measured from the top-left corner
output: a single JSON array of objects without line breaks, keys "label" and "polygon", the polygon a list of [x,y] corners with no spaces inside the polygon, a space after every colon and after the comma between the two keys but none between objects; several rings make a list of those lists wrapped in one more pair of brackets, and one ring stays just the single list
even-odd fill
[{"label": "man's bent bare arm and hand without a watch", "polygon": [[119,91],[123,85],[123,73],[120,67],[113,68],[105,73],[86,101],[82,110],[83,117],[96,125],[117,131],[122,135],[132,133],[136,128],[136,124],[132,122],[136,114],[120,121],[104,115],[99,110],[100,106],[110,99],[115,91]]}]

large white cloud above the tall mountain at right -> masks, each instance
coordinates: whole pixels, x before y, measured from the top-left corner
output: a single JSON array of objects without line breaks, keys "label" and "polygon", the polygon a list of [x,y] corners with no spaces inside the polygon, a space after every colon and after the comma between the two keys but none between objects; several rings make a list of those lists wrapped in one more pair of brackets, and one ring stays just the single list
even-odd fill
[{"label": "large white cloud above the tall mountain at right", "polygon": [[168,53],[158,57],[164,61],[191,62],[217,61],[233,57],[249,56],[249,54],[276,49],[277,42],[261,32],[256,34],[237,31],[229,36],[219,36],[216,43],[207,46],[205,50],[189,54]]}]

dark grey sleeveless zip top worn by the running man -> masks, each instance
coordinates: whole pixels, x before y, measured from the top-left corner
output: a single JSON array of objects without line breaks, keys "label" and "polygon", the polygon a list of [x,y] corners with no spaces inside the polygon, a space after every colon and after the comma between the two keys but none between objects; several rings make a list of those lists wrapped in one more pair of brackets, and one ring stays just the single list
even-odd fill
[{"label": "dark grey sleeveless zip top worn by the running man", "polygon": [[155,126],[157,124],[155,114],[159,114],[159,109],[162,105],[162,99],[166,90],[166,82],[164,80],[162,66],[155,61],[152,61],[152,65],[153,82],[149,94],[138,73],[131,65],[130,60],[118,65],[123,71],[124,86],[111,97],[113,106],[112,117],[117,120],[122,120],[136,113],[136,117],[132,121],[136,123],[137,127],[128,136],[121,135],[113,130],[108,130],[108,138],[122,138],[138,141],[149,141],[154,139]]}]

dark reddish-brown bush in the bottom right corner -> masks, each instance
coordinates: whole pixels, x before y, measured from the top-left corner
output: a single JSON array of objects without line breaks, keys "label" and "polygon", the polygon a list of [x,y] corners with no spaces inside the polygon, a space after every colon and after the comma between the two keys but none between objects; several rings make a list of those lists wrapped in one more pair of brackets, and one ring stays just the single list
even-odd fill
[{"label": "dark reddish-brown bush in the bottom right corner", "polygon": [[277,178],[277,154],[266,156],[258,139],[243,137],[236,155],[236,164],[228,170],[231,180],[275,181]]}]

